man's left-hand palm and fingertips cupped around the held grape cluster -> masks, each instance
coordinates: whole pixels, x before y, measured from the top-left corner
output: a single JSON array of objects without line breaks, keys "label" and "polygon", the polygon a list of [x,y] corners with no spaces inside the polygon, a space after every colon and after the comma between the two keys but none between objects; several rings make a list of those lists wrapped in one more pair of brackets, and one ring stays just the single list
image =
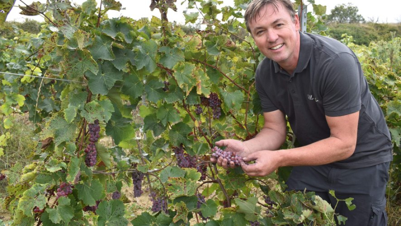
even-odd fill
[{"label": "man's left-hand palm and fingertips cupped around the held grape cluster", "polygon": [[[251,153],[249,149],[244,145],[244,142],[240,140],[234,140],[234,139],[219,140],[218,142],[216,142],[216,145],[220,147],[226,146],[225,151],[231,151],[241,157],[245,157],[249,153]],[[225,169],[235,167],[235,163],[233,161],[228,162],[226,159],[223,159],[223,157],[219,157],[218,159],[211,157],[210,160],[212,162],[216,162],[220,166],[223,166],[223,168]]]}]

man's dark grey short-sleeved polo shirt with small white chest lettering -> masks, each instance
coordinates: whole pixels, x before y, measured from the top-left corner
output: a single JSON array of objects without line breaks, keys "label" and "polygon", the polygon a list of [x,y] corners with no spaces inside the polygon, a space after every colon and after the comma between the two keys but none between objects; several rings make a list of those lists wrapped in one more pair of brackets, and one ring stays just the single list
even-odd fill
[{"label": "man's dark grey short-sleeved polo shirt with small white chest lettering", "polygon": [[300,39],[292,75],[268,58],[259,64],[255,79],[263,111],[282,111],[302,146],[330,136],[326,115],[359,111],[355,152],[330,165],[362,168],[391,161],[389,130],[355,54],[328,37],[300,33]]}]

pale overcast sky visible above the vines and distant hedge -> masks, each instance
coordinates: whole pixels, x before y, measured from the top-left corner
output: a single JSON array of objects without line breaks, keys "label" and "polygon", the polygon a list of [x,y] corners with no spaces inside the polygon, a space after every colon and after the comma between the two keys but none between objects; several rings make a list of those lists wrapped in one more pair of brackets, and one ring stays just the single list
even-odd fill
[{"label": "pale overcast sky visible above the vines and distant hedge", "polygon": [[[117,0],[121,3],[122,7],[125,10],[120,12],[117,11],[109,11],[109,17],[119,17],[125,16],[130,17],[135,20],[138,20],[143,17],[151,18],[152,16],[156,16],[160,18],[160,13],[157,9],[153,12],[150,11],[149,5],[150,0]],[[330,14],[330,11],[334,9],[336,5],[339,4],[348,4],[351,3],[353,6],[356,6],[359,9],[359,14],[366,21],[370,21],[369,19],[374,19],[376,21],[378,19],[379,23],[401,23],[401,11],[399,11],[398,5],[396,2],[399,0],[315,0],[316,4],[320,4],[323,6],[327,6],[327,14]],[[33,2],[41,2],[46,3],[46,0],[24,0],[24,3],[31,4]],[[72,0],[72,3],[82,4],[85,0]],[[100,0],[96,0],[98,4],[100,4]],[[187,1],[183,5],[181,3],[184,0],[177,0],[176,6],[178,8],[177,12],[172,11],[169,9],[167,13],[167,18],[170,22],[176,21],[180,24],[185,23],[185,18],[182,15],[182,11],[186,9]],[[223,0],[224,6],[232,5],[234,0]],[[307,1],[304,1],[307,3]],[[17,0],[16,6],[24,6],[24,4]],[[309,9],[311,11],[311,9]],[[18,7],[15,7],[9,16],[7,17],[7,21],[25,21],[25,18],[30,18],[38,21],[43,21],[41,16],[36,17],[26,17],[19,14],[21,10]],[[194,12],[194,11],[191,11]]]}]

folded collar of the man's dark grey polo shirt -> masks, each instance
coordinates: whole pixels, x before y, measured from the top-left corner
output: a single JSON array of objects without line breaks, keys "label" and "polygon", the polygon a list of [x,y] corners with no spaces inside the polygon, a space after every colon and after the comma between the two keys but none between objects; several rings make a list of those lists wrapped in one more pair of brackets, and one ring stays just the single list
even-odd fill
[{"label": "folded collar of the man's dark grey polo shirt", "polygon": [[[300,50],[299,50],[299,58],[297,68],[295,68],[294,73],[302,72],[309,63],[310,57],[312,55],[312,39],[308,36],[299,32],[300,37]],[[280,65],[273,61],[274,70],[276,73],[280,72]]]}]

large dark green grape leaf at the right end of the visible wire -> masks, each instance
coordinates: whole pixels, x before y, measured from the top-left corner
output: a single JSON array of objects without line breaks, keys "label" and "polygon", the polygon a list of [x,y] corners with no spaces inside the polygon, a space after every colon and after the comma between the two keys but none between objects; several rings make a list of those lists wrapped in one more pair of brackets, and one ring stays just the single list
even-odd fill
[{"label": "large dark green grape leaf at the right end of the visible wire", "polygon": [[111,62],[106,61],[103,64],[99,63],[97,74],[87,72],[86,75],[89,78],[89,89],[92,93],[106,95],[115,82],[122,79],[123,72],[118,71]]}]

